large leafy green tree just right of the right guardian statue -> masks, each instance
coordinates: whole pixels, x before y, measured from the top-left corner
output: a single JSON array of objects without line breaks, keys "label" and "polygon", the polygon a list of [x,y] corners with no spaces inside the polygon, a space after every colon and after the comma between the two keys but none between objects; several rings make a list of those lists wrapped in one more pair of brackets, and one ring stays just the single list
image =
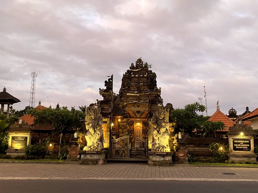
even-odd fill
[{"label": "large leafy green tree just right of the right guardian statue", "polygon": [[200,103],[192,103],[184,106],[181,109],[175,109],[172,111],[171,116],[176,118],[176,131],[183,129],[184,132],[188,133],[192,137],[192,131],[194,129],[198,129],[201,126],[201,119],[204,117],[202,115],[198,115],[197,112],[206,111],[206,107],[204,105],[200,105]]}]

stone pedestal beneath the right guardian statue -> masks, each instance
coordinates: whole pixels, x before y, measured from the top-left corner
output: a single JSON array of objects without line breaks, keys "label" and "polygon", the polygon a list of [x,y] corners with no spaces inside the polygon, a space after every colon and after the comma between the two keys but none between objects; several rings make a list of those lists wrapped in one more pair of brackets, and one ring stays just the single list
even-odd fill
[{"label": "stone pedestal beneath the right guardian statue", "polygon": [[173,166],[173,152],[148,152],[148,166]]}]

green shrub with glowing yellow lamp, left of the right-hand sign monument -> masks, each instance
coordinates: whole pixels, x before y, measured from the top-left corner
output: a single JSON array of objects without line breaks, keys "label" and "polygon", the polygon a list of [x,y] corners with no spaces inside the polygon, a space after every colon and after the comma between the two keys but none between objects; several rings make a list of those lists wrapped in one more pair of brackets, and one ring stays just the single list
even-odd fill
[{"label": "green shrub with glowing yellow lamp, left of the right-hand sign monument", "polygon": [[213,142],[210,144],[209,150],[214,153],[214,162],[224,163],[227,160],[229,145]]}]

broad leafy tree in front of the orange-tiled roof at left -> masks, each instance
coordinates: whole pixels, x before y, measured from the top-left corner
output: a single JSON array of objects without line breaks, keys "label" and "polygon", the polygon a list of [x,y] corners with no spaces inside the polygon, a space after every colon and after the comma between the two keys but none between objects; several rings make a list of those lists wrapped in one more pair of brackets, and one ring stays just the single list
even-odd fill
[{"label": "broad leafy tree in front of the orange-tiled roof at left", "polygon": [[84,120],[85,114],[72,108],[71,111],[67,107],[32,109],[28,114],[34,116],[34,125],[45,124],[51,125],[55,134],[72,133],[78,127],[81,127],[81,120]]}]

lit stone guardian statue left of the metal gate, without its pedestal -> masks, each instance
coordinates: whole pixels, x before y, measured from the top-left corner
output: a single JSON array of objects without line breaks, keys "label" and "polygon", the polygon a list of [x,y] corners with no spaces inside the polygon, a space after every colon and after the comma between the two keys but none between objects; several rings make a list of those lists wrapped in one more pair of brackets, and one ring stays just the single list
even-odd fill
[{"label": "lit stone guardian statue left of the metal gate, without its pedestal", "polygon": [[86,129],[85,135],[87,146],[83,148],[86,151],[102,151],[103,150],[103,117],[100,114],[100,106],[96,103],[86,109]]}]

